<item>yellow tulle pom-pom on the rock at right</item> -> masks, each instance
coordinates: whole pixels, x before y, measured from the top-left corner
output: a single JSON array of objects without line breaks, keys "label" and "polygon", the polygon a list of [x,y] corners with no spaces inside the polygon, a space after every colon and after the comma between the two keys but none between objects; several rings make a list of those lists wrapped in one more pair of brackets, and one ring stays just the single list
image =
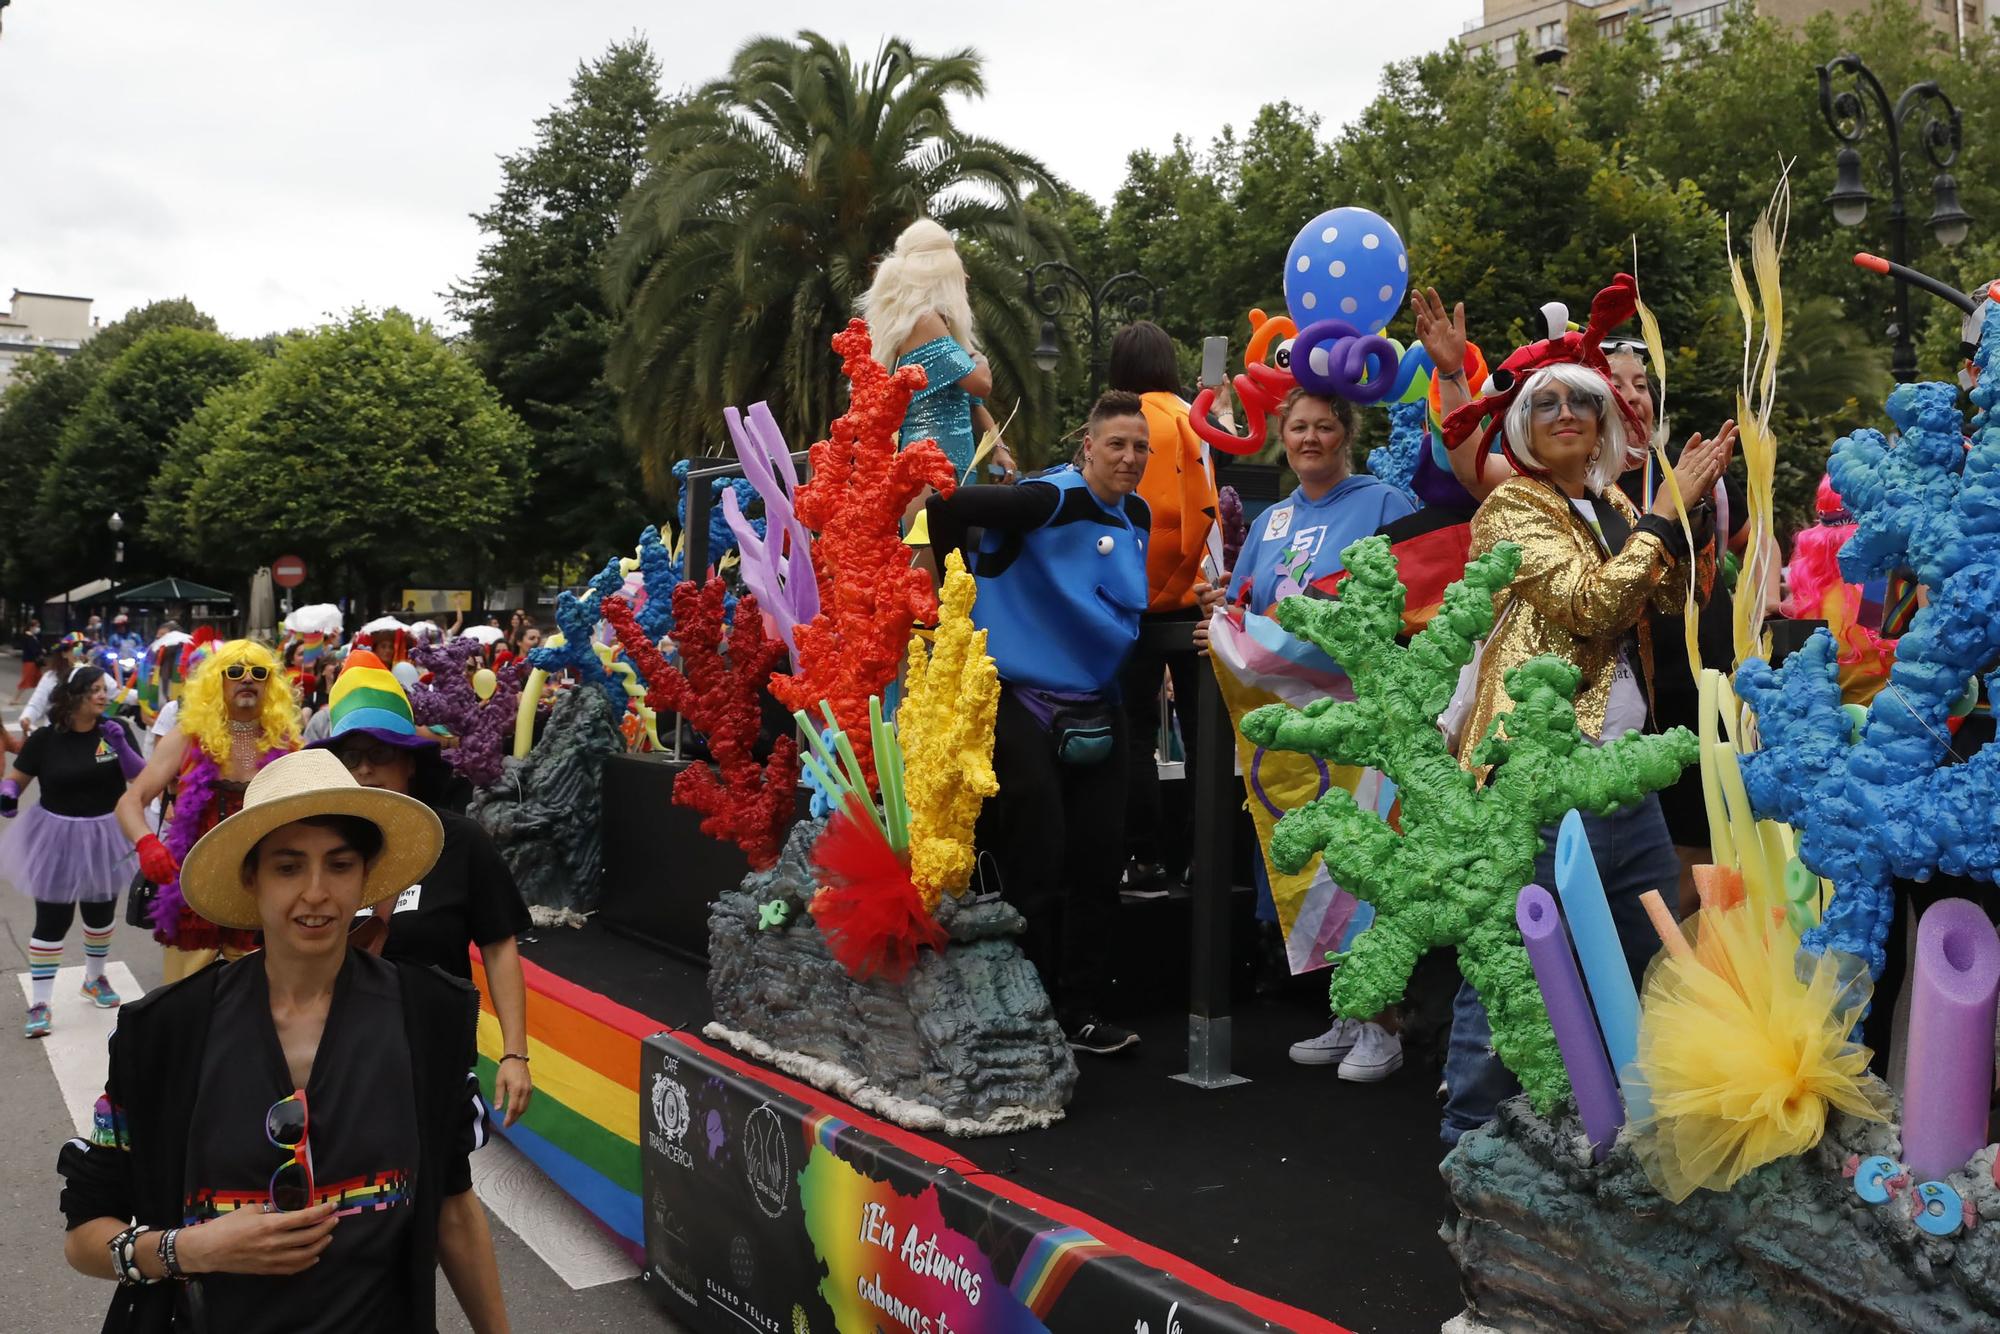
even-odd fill
[{"label": "yellow tulle pom-pom on the rock at right", "polygon": [[1782,914],[1754,908],[1702,912],[1684,928],[1694,954],[1662,952],[1646,974],[1630,1108],[1634,1150],[1660,1194],[1728,1190],[1806,1152],[1828,1108],[1888,1120],[1888,1090],[1850,1042],[1870,990],[1858,960],[1800,958]]}]

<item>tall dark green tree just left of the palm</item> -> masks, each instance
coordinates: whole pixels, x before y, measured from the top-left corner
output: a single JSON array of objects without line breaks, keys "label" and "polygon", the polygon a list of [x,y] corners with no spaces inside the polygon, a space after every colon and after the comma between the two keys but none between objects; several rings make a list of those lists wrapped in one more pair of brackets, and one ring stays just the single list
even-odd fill
[{"label": "tall dark green tree just left of the palm", "polygon": [[534,146],[500,160],[500,198],[476,214],[478,268],[452,286],[472,362],[534,432],[536,522],[506,552],[524,574],[624,544],[646,522],[604,382],[602,260],[664,110],[644,38],[580,64],[570,96],[534,122]]}]

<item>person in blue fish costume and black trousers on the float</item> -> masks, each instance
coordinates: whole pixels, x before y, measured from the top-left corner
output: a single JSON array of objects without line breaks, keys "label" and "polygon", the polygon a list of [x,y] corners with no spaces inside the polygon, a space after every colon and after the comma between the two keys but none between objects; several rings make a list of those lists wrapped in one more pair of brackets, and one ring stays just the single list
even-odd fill
[{"label": "person in blue fish costume and black trousers on the float", "polygon": [[1090,410],[1082,462],[1014,486],[962,486],[928,506],[940,554],[964,550],[978,578],[972,620],[1000,674],[994,774],[974,844],[1028,918],[1022,950],[1056,1020],[1082,1052],[1138,1034],[1100,1016],[1124,866],[1126,724],[1118,674],[1146,610],[1150,430],[1138,394]]}]

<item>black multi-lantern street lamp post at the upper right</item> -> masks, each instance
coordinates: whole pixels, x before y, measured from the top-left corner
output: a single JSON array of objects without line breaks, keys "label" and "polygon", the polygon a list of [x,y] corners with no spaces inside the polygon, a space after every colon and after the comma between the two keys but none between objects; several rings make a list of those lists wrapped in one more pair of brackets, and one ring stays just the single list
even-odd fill
[{"label": "black multi-lantern street lamp post at the upper right", "polygon": [[[1854,88],[1834,92],[1834,76],[1842,74],[1852,76]],[[1972,214],[1958,204],[1958,180],[1946,170],[1958,160],[1958,150],[1962,148],[1958,108],[1944,96],[1936,80],[1926,78],[1920,84],[1910,84],[1896,98],[1896,104],[1890,106],[1882,80],[1860,62],[1860,56],[1838,56],[1822,64],[1820,114],[1826,116],[1826,124],[1842,142],[1840,152],[1834,154],[1834,192],[1826,196],[1826,204],[1834,210],[1834,222],[1840,226],[1860,226],[1868,218],[1868,204],[1874,202],[1862,176],[1862,154],[1856,148],[1868,134],[1870,106],[1874,108],[1872,114],[1882,120],[1884,134],[1888,134],[1888,160],[1880,176],[1890,188],[1890,258],[1896,264],[1908,266],[1910,214],[1902,174],[1902,132],[1914,124],[1918,114],[1924,118],[1916,126],[1918,142],[1922,142],[1924,156],[1938,170],[1930,182],[1930,232],[1938,238],[1940,246],[1948,248],[1962,242],[1972,228]],[[1898,382],[1908,384],[1916,380],[1916,340],[1910,332],[1910,284],[1902,278],[1896,278],[1896,322],[1888,332],[1896,340],[1890,374]]]}]

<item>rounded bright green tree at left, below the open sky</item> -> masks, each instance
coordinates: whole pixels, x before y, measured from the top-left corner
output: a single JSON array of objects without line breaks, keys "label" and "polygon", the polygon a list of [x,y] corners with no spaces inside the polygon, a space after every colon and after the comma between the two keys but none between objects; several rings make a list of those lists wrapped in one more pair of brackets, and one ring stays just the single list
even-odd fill
[{"label": "rounded bright green tree at left, below the open sky", "polygon": [[424,566],[476,576],[514,538],[528,442],[428,324],[356,310],[288,338],[182,428],[176,454],[200,472],[180,520],[216,568],[242,574],[284,548],[330,590],[378,598]]}]

